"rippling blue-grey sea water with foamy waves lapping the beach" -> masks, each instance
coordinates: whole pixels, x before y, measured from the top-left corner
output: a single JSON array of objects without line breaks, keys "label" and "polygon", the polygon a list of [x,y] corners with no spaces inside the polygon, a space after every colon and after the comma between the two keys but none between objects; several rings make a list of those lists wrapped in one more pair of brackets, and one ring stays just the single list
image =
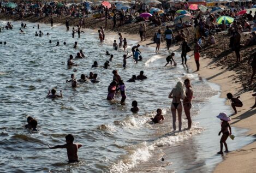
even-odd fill
[{"label": "rippling blue-grey sea water with foamy waves lapping the beach", "polygon": [[[0,26],[5,23],[0,21]],[[96,31],[89,29],[84,29],[85,33],[79,39],[78,35],[72,38],[72,32],[66,32],[64,26],[50,28],[40,24],[44,35],[35,37],[34,32],[39,31],[37,23],[27,23],[28,28],[23,29],[25,34],[19,33],[20,22],[13,22],[13,25],[12,31],[4,29],[0,33],[0,41],[7,41],[7,45],[0,45],[0,172],[130,172],[136,168],[145,171],[143,163],[162,156],[162,147],[172,148],[204,133],[206,127],[198,123],[200,120],[194,121],[189,131],[171,133],[171,100],[168,94],[177,81],[186,77],[192,79],[196,91],[193,116],[206,105],[209,98],[205,96],[211,97],[217,92],[206,81],[190,73],[187,67],[163,67],[169,54],[165,50],[156,54],[151,47],[141,47],[143,61],[134,64],[129,58],[127,68],[123,69],[122,55],[126,52],[114,51],[111,46],[114,39],[118,40],[118,35],[106,34],[105,43],[100,44]],[[52,44],[48,43],[50,39]],[[61,46],[55,46],[57,41]],[[64,41],[66,46],[63,46]],[[75,41],[78,41],[78,49],[73,48]],[[135,43],[128,40],[129,51]],[[78,70],[76,79],[82,73],[88,75],[93,71],[98,74],[100,82],[82,83],[72,88],[66,79],[70,79],[74,68],[67,68],[67,60],[70,54],[75,56],[80,49],[86,58],[74,59],[79,64],[75,67]],[[103,69],[104,62],[109,59],[105,56],[106,50],[114,55],[109,69]],[[178,52],[176,57],[180,57]],[[98,61],[100,67],[92,69],[94,61]],[[180,64],[180,58],[176,61]],[[121,100],[118,94],[118,102],[110,104],[106,100],[114,69],[124,81],[133,74],[138,75],[140,70],[144,70],[148,77],[135,83],[125,82],[126,105],[118,103]],[[62,90],[64,97],[45,98],[53,87],[57,92]],[[130,112],[133,100],[139,103],[139,114]],[[158,108],[162,108],[166,120],[152,125],[148,120]],[[30,132],[23,127],[27,116],[37,118],[38,132]],[[186,120],[183,121],[183,128],[186,128]],[[47,148],[47,144],[64,144],[66,134],[73,134],[75,142],[83,144],[79,149],[81,162],[78,164],[67,163],[66,150]],[[182,156],[176,154],[176,157]],[[173,169],[182,172],[186,169],[175,167],[179,164],[175,161],[165,162],[164,166],[160,164],[147,166],[147,169],[152,172],[163,167],[159,171]],[[169,168],[172,165],[174,167]]]}]

